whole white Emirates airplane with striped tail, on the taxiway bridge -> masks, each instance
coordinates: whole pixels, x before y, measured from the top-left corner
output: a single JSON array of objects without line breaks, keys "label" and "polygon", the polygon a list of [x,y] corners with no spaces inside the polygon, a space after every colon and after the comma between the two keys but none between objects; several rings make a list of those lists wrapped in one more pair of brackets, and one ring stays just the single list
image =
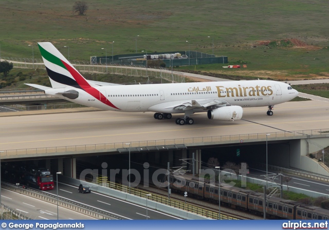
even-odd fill
[{"label": "whole white Emirates airplane with striped tail, on the taxiway bridge", "polygon": [[243,107],[268,107],[297,97],[289,84],[269,80],[242,80],[170,84],[119,85],[86,80],[49,42],[39,48],[52,87],[27,84],[88,107],[118,112],[155,112],[155,119],[184,113],[177,125],[192,125],[194,113],[207,112],[209,119],[240,120]]}]

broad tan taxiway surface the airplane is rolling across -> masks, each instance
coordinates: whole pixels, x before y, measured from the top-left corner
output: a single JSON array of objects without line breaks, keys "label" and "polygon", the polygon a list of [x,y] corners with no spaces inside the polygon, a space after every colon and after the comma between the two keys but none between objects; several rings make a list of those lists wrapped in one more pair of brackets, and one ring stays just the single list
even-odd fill
[{"label": "broad tan taxiway surface the airplane is rolling across", "polygon": [[157,120],[151,112],[0,113],[0,150],[329,128],[329,103],[321,99],[278,104],[273,116],[266,111],[244,108],[242,120],[233,122],[198,113],[192,115],[194,125],[184,126],[175,124],[182,114]]}]

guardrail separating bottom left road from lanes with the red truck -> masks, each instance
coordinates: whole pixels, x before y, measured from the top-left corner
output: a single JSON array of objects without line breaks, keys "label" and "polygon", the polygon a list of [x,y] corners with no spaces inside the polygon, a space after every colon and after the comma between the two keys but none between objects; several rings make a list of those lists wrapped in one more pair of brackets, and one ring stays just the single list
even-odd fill
[{"label": "guardrail separating bottom left road from lanes with the red truck", "polygon": [[[51,197],[48,194],[43,194],[42,192],[37,192],[34,190],[30,190],[30,189],[26,189],[26,188],[21,188],[21,187],[17,187],[17,186],[12,186],[10,184],[4,183],[3,187],[9,188],[10,190],[22,193],[22,194],[26,194],[29,197],[34,197],[37,198],[39,200],[43,200],[52,204],[57,204],[57,197]],[[66,201],[63,198],[60,198],[58,200],[58,205],[61,207],[65,207],[74,211],[78,211],[79,213],[83,213],[85,215],[97,218],[97,219],[103,219],[103,220],[119,220],[120,218],[117,218],[115,216],[112,215],[108,215],[103,211],[94,211],[94,210],[90,210],[91,208],[89,207],[83,207],[77,204],[72,203],[71,201]]]}]

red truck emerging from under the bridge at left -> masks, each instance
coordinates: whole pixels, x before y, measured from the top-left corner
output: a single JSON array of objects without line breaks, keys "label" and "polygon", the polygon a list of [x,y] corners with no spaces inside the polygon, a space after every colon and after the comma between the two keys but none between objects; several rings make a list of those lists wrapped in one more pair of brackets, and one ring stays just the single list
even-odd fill
[{"label": "red truck emerging from under the bridge at left", "polygon": [[26,172],[22,184],[40,190],[51,190],[54,188],[53,178],[48,170],[37,171],[35,174]]}]

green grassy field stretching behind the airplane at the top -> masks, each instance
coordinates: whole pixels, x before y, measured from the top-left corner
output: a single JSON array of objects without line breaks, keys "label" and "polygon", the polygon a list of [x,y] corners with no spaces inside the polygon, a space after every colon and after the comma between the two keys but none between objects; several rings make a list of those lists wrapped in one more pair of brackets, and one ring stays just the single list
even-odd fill
[{"label": "green grassy field stretching behind the airplane at the top", "polygon": [[84,61],[104,56],[101,48],[112,55],[112,41],[114,55],[134,54],[136,41],[138,52],[191,49],[211,54],[213,42],[215,55],[248,67],[189,69],[280,80],[329,76],[329,5],[324,0],[98,0],[87,2],[89,10],[82,16],[72,13],[74,2],[0,1],[1,56],[31,58],[28,45],[33,45],[34,57],[41,58],[40,41],[52,42],[65,56],[69,51],[70,60]]}]

